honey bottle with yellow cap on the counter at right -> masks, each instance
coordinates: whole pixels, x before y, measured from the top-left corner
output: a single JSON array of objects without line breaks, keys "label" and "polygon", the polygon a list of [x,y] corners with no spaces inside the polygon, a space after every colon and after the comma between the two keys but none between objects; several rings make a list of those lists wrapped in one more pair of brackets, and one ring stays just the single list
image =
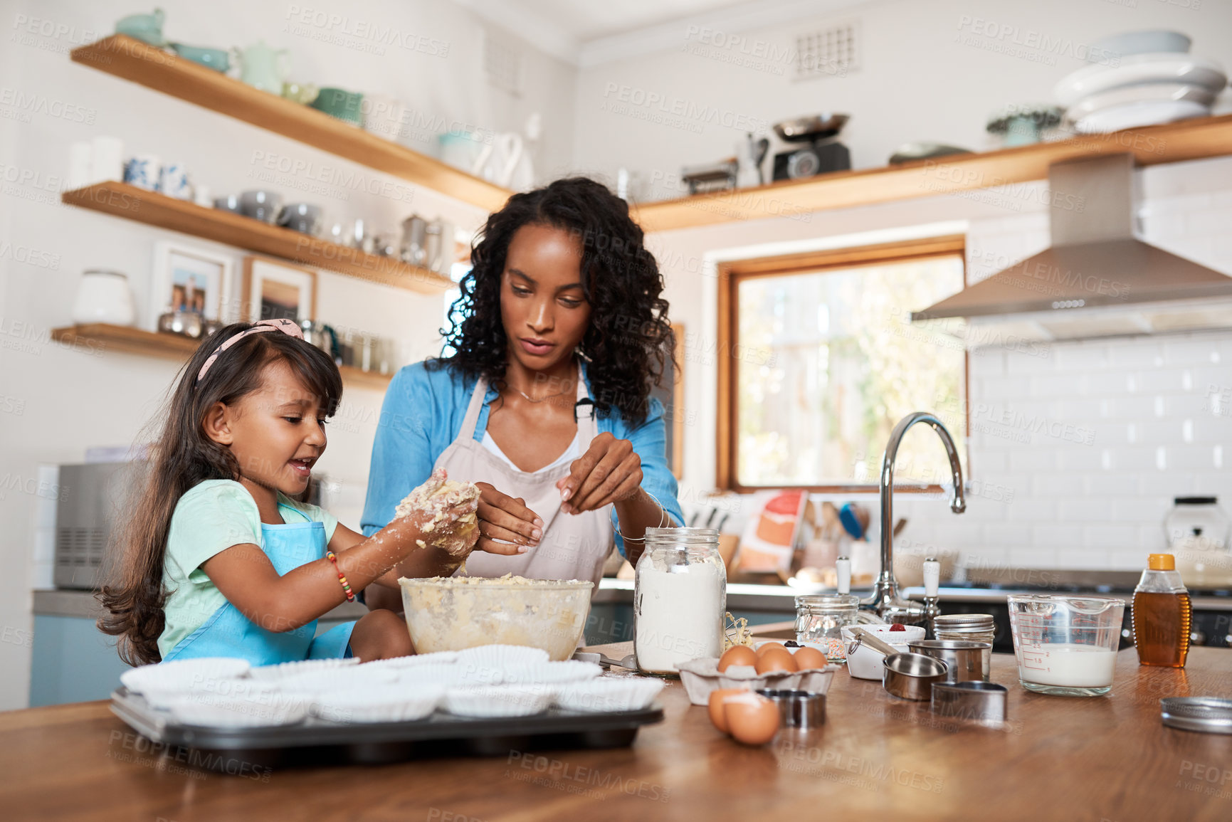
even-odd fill
[{"label": "honey bottle with yellow cap on the counter at right", "polygon": [[1133,589],[1133,645],[1143,665],[1184,668],[1193,605],[1170,553],[1152,553]]}]

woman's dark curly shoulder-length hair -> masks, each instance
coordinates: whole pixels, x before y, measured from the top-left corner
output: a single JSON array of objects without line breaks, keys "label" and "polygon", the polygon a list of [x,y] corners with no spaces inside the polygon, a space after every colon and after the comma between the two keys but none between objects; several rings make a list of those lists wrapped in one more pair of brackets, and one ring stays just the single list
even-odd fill
[{"label": "woman's dark curly shoulder-length hair", "polygon": [[515,193],[488,217],[471,248],[471,272],[450,312],[445,344],[456,351],[430,360],[468,377],[500,385],[508,364],[508,339],[500,318],[500,277],[514,234],[522,226],[551,226],[582,244],[582,288],[590,303],[590,324],[579,352],[588,361],[591,399],[601,415],[615,408],[630,423],[646,419],[650,391],[659,383],[675,338],[667,319],[668,301],[658,262],[646,249],[642,228],[628,203],[602,184],[567,177]]}]

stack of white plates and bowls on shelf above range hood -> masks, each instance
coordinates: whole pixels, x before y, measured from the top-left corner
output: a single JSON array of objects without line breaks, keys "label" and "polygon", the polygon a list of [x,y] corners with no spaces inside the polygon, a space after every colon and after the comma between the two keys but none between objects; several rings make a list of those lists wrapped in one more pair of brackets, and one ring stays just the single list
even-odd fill
[{"label": "stack of white plates and bowls on shelf above range hood", "polygon": [[1062,79],[1053,95],[1079,133],[1206,117],[1227,74],[1215,60],[1188,52],[1189,38],[1178,32],[1110,37],[1092,48],[1098,63]]}]

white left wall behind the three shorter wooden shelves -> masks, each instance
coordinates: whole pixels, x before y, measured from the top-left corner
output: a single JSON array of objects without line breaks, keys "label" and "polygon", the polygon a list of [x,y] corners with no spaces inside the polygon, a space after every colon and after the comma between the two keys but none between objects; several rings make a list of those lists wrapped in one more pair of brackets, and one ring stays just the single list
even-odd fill
[{"label": "white left wall behind the three shorter wooden shelves", "polygon": [[[159,5],[166,10],[164,33],[170,39],[243,47],[264,38],[291,51],[292,78],[393,95],[420,111],[424,121],[520,131],[526,117],[540,111],[545,137],[537,150],[548,158],[540,164],[541,174],[551,176],[570,165],[572,68],[526,47],[524,96],[489,87],[479,59],[484,27],[453,4],[310,4],[318,11],[347,16],[352,31],[359,23],[379,23],[447,43],[447,57],[397,44],[383,46],[383,54],[360,51],[354,47],[361,43],[359,38],[342,37],[339,44],[331,39],[338,31],[313,26],[312,17],[304,27],[290,30],[288,14],[297,4],[165,0]],[[272,177],[262,176],[267,170],[261,158],[306,161],[319,174],[328,166],[344,177],[382,175],[68,59],[69,49],[110,33],[116,20],[134,10],[120,0],[0,2],[0,90],[6,95],[0,97],[0,481],[7,488],[0,489],[0,563],[5,567],[0,635],[6,637],[0,642],[0,710],[26,704],[30,679],[30,649],[7,641],[14,631],[30,631],[32,624],[36,498],[17,488],[37,479],[39,463],[80,462],[89,446],[132,441],[155,413],[177,367],[170,360],[65,350],[48,339],[49,330],[69,324],[73,295],[87,267],[127,272],[144,322],[158,240],[176,239],[232,255],[237,269],[243,256],[223,245],[60,206],[69,144],[112,134],[124,142],[127,153],[182,160],[216,193],[270,187],[291,198],[320,202],[338,218],[363,217],[381,229],[398,226],[411,212],[429,218],[440,214],[468,229],[485,217],[409,184],[399,189],[409,192],[407,201],[345,185],[304,190],[302,176],[280,174],[276,165]],[[15,102],[15,95],[25,102]],[[65,118],[48,111],[73,113]],[[416,148],[432,150],[426,137]],[[28,255],[21,250],[18,256],[16,249],[39,251],[41,265],[18,261]],[[326,322],[399,339],[405,361],[439,350],[440,297],[323,272],[318,304]],[[334,513],[351,526],[359,525],[379,403],[381,392],[347,389],[320,462],[325,474],[344,481]],[[37,492],[37,484],[32,487]]]}]

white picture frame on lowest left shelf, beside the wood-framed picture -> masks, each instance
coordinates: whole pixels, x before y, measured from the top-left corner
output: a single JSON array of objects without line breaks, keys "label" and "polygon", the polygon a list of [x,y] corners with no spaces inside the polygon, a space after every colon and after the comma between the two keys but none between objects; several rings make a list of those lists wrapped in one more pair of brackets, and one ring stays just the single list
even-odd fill
[{"label": "white picture frame on lowest left shelf, beside the wood-framed picture", "polygon": [[149,328],[166,311],[197,311],[203,319],[229,322],[235,260],[225,254],[185,243],[160,240],[154,244],[154,267],[149,292]]}]

